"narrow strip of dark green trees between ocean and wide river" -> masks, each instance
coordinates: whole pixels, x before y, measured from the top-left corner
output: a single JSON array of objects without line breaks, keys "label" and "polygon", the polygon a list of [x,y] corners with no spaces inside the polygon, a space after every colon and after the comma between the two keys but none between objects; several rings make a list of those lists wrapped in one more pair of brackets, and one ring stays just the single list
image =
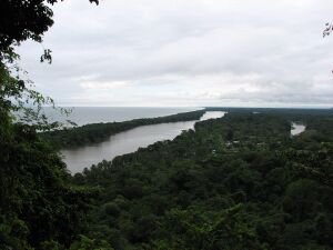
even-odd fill
[{"label": "narrow strip of dark green trees between ocean and wide river", "polygon": [[199,120],[204,112],[205,110],[196,110],[158,118],[133,119],[122,122],[91,123],[46,132],[42,137],[57,149],[75,148],[90,143],[102,142],[110,136],[140,126]]}]

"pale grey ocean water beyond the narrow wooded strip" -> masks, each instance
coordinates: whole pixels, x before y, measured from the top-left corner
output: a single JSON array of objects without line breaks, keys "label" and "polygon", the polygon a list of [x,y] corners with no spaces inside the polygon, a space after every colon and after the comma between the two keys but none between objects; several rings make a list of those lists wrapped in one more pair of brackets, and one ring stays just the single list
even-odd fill
[{"label": "pale grey ocean water beyond the narrow wooded strip", "polygon": [[54,112],[51,108],[44,111],[52,121],[71,120],[78,126],[98,122],[127,121],[138,118],[155,118],[202,108],[145,108],[145,107],[74,107],[69,117]]}]

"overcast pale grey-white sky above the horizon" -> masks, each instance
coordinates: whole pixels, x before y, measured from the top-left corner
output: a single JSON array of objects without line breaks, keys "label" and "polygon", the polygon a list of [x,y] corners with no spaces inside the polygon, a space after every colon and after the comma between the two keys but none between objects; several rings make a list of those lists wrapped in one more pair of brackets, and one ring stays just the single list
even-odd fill
[{"label": "overcast pale grey-white sky above the horizon", "polygon": [[69,0],[53,11],[43,44],[19,52],[58,104],[333,106],[332,0]]}]

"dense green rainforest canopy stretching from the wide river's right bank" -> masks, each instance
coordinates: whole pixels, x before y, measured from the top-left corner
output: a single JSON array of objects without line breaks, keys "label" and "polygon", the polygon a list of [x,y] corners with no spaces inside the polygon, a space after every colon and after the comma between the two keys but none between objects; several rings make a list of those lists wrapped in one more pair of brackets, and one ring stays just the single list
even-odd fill
[{"label": "dense green rainforest canopy stretching from the wide river's right bank", "polygon": [[333,249],[332,128],[330,110],[232,109],[92,166],[74,176],[103,189],[85,233],[114,249]]}]

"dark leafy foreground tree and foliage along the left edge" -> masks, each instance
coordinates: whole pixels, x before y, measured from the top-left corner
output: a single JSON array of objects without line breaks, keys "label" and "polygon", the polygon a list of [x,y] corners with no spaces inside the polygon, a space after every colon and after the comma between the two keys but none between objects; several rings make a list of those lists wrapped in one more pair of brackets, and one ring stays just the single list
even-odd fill
[{"label": "dark leafy foreground tree and foliage along the left edge", "polygon": [[[54,3],[57,0],[0,1],[0,249],[69,247],[94,192],[72,186],[58,152],[40,139],[37,131],[58,126],[48,123],[40,112],[53,101],[20,78],[14,52],[28,39],[42,42],[53,24]],[[46,50],[41,61],[51,62],[50,52]]]}]

